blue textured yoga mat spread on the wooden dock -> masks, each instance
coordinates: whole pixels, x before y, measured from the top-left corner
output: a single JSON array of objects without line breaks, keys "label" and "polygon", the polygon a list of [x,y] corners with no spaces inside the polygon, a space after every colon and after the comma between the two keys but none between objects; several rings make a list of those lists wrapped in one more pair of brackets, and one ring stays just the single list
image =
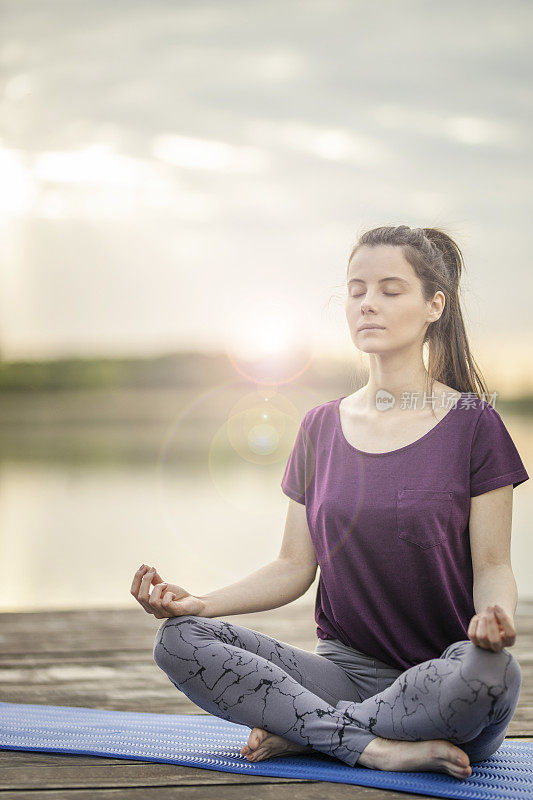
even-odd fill
[{"label": "blue textured yoga mat spread on the wooden dock", "polygon": [[0,702],[0,748],[159,761],[200,769],[377,786],[436,797],[533,800],[533,743],[504,741],[464,780],[440,772],[350,767],[325,753],[251,763],[250,728],[210,714],[148,714]]}]

